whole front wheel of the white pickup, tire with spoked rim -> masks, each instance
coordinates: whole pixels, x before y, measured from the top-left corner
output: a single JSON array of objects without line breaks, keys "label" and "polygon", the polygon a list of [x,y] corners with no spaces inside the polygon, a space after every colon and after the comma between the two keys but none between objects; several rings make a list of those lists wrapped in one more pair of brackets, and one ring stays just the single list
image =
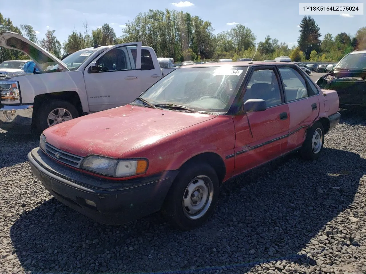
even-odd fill
[{"label": "whole front wheel of the white pickup, tire with spoked rim", "polygon": [[40,106],[37,115],[37,129],[42,132],[50,126],[57,125],[79,117],[78,110],[70,102],[64,100],[48,101]]}]

